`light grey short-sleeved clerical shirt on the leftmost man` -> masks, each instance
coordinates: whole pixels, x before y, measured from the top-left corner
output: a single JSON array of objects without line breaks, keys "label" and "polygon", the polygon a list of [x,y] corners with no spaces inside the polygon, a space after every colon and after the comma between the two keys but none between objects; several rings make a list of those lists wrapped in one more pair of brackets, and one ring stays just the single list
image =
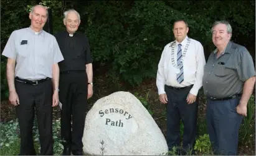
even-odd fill
[{"label": "light grey short-sleeved clerical shirt on the leftmost man", "polygon": [[16,59],[15,76],[27,80],[52,78],[52,65],[64,60],[53,35],[30,27],[12,32],[2,55]]}]

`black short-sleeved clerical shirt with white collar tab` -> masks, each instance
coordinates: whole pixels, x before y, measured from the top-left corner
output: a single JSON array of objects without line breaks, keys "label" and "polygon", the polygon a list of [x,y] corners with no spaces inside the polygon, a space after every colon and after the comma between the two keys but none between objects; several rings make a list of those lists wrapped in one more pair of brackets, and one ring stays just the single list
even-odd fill
[{"label": "black short-sleeved clerical shirt with white collar tab", "polygon": [[85,64],[92,63],[88,38],[78,32],[70,37],[67,30],[56,33],[54,36],[64,56],[64,61],[59,63],[60,72],[85,71]]}]

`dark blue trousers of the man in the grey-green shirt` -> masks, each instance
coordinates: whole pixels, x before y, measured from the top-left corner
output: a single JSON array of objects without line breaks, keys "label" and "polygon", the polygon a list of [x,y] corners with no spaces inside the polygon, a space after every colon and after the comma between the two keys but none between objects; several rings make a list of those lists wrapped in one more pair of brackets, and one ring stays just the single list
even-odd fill
[{"label": "dark blue trousers of the man in the grey-green shirt", "polygon": [[207,130],[215,155],[236,155],[239,126],[243,116],[236,111],[240,98],[230,100],[207,99]]}]

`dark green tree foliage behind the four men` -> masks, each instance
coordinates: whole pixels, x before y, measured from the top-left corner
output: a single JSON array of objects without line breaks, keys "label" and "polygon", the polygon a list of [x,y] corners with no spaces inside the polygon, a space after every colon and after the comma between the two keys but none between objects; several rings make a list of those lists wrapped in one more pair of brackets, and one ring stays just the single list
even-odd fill
[{"label": "dark green tree foliage behind the four men", "polygon": [[1,50],[13,30],[29,26],[29,6],[39,2],[52,8],[54,33],[65,29],[63,12],[77,10],[82,20],[79,31],[89,38],[95,69],[105,67],[111,79],[131,85],[156,77],[163,48],[174,40],[176,19],[187,20],[188,35],[202,43],[206,59],[214,50],[211,25],[223,19],[232,25],[232,40],[255,58],[255,1],[6,0],[1,1]]}]

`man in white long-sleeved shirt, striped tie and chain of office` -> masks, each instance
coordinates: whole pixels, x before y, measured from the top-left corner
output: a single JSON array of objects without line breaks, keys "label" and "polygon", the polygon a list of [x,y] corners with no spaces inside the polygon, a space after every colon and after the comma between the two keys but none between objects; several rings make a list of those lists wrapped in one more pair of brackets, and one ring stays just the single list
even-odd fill
[{"label": "man in white long-sleeved shirt, striped tie and chain of office", "polygon": [[[184,124],[183,148],[178,154],[186,155],[194,147],[197,125],[197,96],[202,87],[206,59],[199,41],[187,37],[189,27],[184,20],[176,20],[173,33],[176,40],[164,47],[158,64],[156,85],[159,100],[167,104],[167,144],[169,150],[179,147],[179,123]],[[192,152],[194,152],[192,150]]]}]

